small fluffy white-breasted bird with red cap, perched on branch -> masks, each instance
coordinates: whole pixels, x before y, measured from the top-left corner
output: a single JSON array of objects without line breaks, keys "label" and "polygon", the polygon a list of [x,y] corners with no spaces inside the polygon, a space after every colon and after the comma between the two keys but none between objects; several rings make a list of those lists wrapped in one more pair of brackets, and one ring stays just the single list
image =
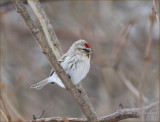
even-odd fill
[{"label": "small fluffy white-breasted bird with red cap, perched on branch", "polygon": [[[91,54],[92,51],[88,42],[80,39],[74,42],[70,49],[60,58],[59,63],[73,84],[78,84],[88,74]],[[53,83],[65,88],[56,72],[52,70],[49,77],[32,85],[31,88],[39,90],[47,84]]]}]

